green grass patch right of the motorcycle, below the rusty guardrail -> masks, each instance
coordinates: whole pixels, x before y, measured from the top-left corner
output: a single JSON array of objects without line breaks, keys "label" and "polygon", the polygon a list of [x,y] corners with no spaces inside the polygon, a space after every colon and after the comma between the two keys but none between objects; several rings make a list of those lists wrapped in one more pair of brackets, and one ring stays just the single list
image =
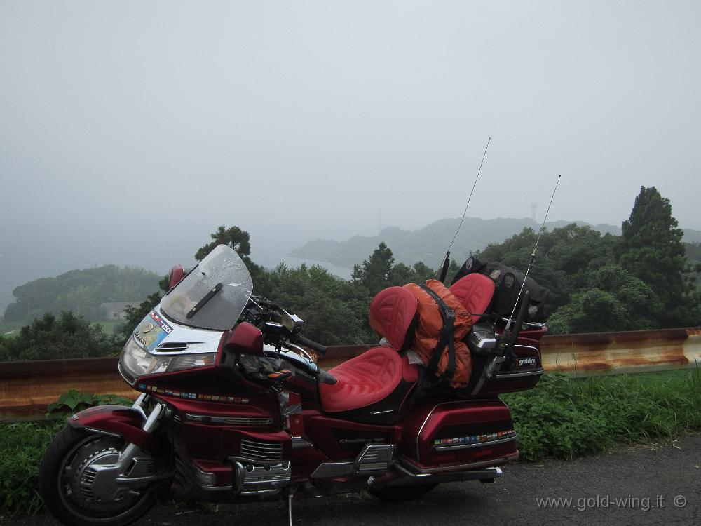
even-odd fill
[{"label": "green grass patch right of the motorcycle, below the rusty guardrail", "polygon": [[701,429],[701,368],[587,379],[545,375],[536,389],[502,398],[526,461],[573,459]]}]

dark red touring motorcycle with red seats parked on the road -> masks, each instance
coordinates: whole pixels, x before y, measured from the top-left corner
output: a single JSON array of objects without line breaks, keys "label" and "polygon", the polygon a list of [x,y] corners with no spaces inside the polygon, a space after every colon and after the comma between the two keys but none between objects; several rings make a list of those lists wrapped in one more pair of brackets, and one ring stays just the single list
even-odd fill
[{"label": "dark red touring motorcycle with red seats parked on the road", "polygon": [[[134,405],[72,415],[44,454],[41,497],[65,524],[125,525],[158,496],[288,499],[290,510],[292,499],[358,490],[417,499],[440,483],[492,482],[518,457],[497,396],[543,373],[546,328],[522,323],[525,309],[513,331],[475,315],[472,374],[456,393],[432,389],[412,358],[416,302],[404,288],[371,306],[383,344],[324,371],[308,350],[325,347],[301,335],[294,313],[252,295],[231,248],[183,274],[172,272],[121,353],[119,372],[142,393]],[[494,283],[470,274],[451,290],[482,313]]]}]

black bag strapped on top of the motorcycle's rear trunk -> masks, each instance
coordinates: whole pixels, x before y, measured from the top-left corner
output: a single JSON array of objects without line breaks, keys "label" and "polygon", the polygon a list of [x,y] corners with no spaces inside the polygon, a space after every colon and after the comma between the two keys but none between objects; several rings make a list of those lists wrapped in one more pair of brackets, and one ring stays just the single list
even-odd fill
[{"label": "black bag strapped on top of the motorcycle's rear trunk", "polygon": [[516,316],[517,313],[514,307],[525,278],[526,285],[524,285],[524,292],[526,290],[529,291],[530,299],[524,321],[536,323],[543,323],[545,321],[545,318],[547,318],[545,300],[547,299],[547,295],[550,294],[550,289],[541,287],[536,283],[536,280],[530,276],[526,278],[521,271],[505,267],[498,263],[482,263],[476,257],[469,257],[468,260],[463,263],[463,266],[460,267],[458,273],[453,278],[451,285],[458,281],[458,279],[475,272],[484,274],[484,276],[494,281],[495,289],[494,297],[492,297],[491,300],[491,312],[495,313],[497,316],[503,316],[504,318],[511,316],[512,312],[514,316]]}]

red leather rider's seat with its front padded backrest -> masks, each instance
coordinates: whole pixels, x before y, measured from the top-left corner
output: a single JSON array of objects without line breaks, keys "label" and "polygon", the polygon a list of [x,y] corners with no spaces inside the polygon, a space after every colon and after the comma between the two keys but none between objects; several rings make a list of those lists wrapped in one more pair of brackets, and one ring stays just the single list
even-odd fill
[{"label": "red leather rider's seat with its front padded backrest", "polygon": [[367,407],[387,398],[402,380],[403,389],[418,380],[416,365],[409,364],[409,358],[397,352],[407,346],[414,332],[416,305],[416,297],[402,287],[386,288],[373,298],[370,325],[387,338],[391,347],[374,347],[329,370],[336,383],[319,384],[323,410],[339,412]]}]

